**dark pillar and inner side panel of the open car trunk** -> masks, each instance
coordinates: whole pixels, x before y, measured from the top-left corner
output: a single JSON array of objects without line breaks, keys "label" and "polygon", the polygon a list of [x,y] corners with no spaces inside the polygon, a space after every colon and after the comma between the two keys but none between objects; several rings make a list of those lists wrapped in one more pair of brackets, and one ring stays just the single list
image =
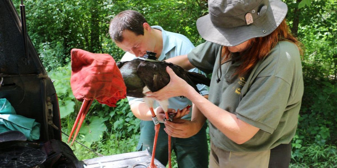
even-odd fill
[{"label": "dark pillar and inner side panel of the open car trunk", "polygon": [[52,126],[61,128],[53,82],[28,36],[24,45],[21,21],[12,1],[0,1],[0,16],[0,98],[6,98],[17,115],[41,124],[38,141],[61,140],[61,133]]}]

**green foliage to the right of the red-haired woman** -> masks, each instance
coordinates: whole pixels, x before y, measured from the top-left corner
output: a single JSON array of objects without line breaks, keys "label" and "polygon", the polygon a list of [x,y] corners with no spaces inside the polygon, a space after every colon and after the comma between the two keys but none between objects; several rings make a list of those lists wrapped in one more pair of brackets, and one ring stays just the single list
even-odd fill
[{"label": "green foliage to the right of the red-haired woman", "polygon": [[[292,141],[291,167],[332,167],[334,160],[316,159],[319,152],[335,149],[336,109],[336,10],[334,1],[286,1],[290,25],[299,17],[298,38],[305,46],[302,62],[304,95],[296,136]],[[297,1],[299,2],[299,1]],[[300,13],[296,13],[296,10]],[[315,159],[312,159],[315,156]],[[322,158],[322,157],[321,157]]]}]

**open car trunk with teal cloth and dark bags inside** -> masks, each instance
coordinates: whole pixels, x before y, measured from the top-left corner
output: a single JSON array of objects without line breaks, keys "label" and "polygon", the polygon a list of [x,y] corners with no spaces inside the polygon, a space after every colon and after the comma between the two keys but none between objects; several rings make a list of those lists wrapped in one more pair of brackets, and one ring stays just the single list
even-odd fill
[{"label": "open car trunk with teal cloth and dark bags inside", "polygon": [[[24,6],[21,8],[24,11]],[[0,100],[9,102],[0,104],[0,168],[147,167],[151,160],[148,151],[79,161],[70,147],[61,141],[56,90],[29,36],[22,29],[21,20],[25,22],[22,16],[11,0],[0,0]],[[2,113],[4,107],[13,109],[13,113]],[[18,116],[20,120],[11,121]],[[18,125],[11,128],[19,128],[26,120],[38,123],[34,139],[27,139],[20,130],[5,127]],[[4,131],[5,128],[8,130]],[[155,163],[165,167],[157,160]]]}]

